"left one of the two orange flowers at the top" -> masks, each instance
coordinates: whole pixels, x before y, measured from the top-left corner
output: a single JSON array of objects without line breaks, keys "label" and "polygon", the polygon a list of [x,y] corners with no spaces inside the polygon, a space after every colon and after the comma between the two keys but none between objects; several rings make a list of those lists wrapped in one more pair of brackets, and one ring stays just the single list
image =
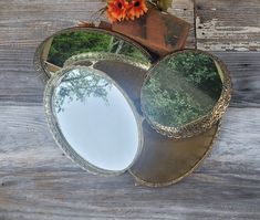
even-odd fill
[{"label": "left one of the two orange flowers at the top", "polygon": [[110,21],[115,22],[124,20],[127,7],[127,0],[108,0],[106,13]]}]

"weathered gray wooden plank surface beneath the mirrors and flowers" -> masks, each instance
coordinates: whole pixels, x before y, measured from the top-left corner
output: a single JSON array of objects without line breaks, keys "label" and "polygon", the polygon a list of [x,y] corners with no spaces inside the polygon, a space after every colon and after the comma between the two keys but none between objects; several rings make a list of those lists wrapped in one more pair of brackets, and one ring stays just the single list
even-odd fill
[{"label": "weathered gray wooden plank surface beneath the mirrors and flowers", "polygon": [[37,45],[87,20],[101,0],[0,1],[0,220],[260,219],[260,1],[175,0],[189,48],[211,51],[232,76],[232,102],[202,166],[167,188],[134,186],[128,174],[81,170],[49,133]]}]

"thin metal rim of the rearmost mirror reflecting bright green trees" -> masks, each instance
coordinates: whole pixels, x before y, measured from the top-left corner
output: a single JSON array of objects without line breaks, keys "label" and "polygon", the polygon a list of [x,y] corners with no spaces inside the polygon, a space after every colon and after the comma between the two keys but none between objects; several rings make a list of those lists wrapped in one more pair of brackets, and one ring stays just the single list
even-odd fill
[{"label": "thin metal rim of the rearmost mirror reflecting bright green trees", "polygon": [[34,66],[34,70],[37,71],[37,73],[39,73],[38,76],[42,80],[43,84],[45,84],[48,82],[48,80],[51,77],[51,74],[44,67],[44,63],[42,61],[43,60],[42,59],[42,53],[43,53],[43,49],[44,49],[45,43],[51,38],[54,38],[59,34],[67,33],[67,32],[71,32],[71,31],[97,31],[97,32],[102,32],[102,33],[110,34],[110,35],[113,35],[113,36],[117,36],[121,40],[124,40],[127,43],[133,44],[135,48],[137,48],[150,63],[154,62],[154,59],[153,59],[152,54],[148,52],[148,50],[146,50],[141,44],[138,44],[136,41],[127,38],[126,35],[123,35],[123,34],[119,34],[117,32],[113,32],[113,31],[110,31],[110,30],[106,30],[106,29],[96,28],[96,27],[87,27],[87,28],[86,27],[84,27],[84,28],[83,27],[72,27],[72,28],[67,28],[67,29],[62,29],[62,30],[55,32],[54,34],[48,36],[37,48],[34,56],[33,56],[33,66]]}]

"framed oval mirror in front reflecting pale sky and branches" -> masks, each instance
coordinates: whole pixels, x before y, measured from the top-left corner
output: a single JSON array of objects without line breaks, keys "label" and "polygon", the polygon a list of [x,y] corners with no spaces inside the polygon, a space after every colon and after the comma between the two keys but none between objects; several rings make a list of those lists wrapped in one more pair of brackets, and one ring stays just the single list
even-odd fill
[{"label": "framed oval mirror in front reflecting pale sky and branches", "polygon": [[122,174],[138,157],[143,147],[139,116],[105,73],[67,66],[48,82],[44,103],[55,140],[86,170]]}]

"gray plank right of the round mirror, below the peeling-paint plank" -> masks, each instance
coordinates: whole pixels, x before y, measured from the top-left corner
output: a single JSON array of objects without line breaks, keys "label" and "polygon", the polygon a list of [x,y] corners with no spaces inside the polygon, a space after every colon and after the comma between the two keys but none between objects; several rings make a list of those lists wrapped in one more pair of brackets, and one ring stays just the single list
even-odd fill
[{"label": "gray plank right of the round mirror, below the peeling-paint plank", "polygon": [[232,107],[260,107],[260,53],[214,52],[227,65],[232,80]]}]

